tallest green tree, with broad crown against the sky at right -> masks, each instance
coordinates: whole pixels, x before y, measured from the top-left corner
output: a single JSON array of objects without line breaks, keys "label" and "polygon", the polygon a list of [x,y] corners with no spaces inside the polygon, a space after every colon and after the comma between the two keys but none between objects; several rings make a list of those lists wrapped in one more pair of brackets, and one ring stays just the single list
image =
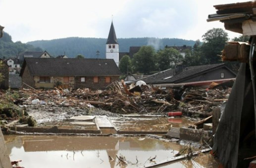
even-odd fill
[{"label": "tallest green tree, with broad crown against the sky at right", "polygon": [[213,28],[207,31],[203,36],[204,43],[202,44],[202,63],[216,64],[220,63],[221,51],[224,49],[226,41],[228,41],[228,34],[220,28]]}]

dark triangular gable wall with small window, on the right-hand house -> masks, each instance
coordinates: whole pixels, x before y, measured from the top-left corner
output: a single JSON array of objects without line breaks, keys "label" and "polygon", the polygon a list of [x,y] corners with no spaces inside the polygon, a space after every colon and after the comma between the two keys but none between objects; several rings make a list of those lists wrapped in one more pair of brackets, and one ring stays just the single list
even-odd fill
[{"label": "dark triangular gable wall with small window, on the right-hand house", "polygon": [[[224,73],[224,78],[221,78],[221,72]],[[196,81],[206,81],[206,80],[217,80],[217,79],[230,79],[230,78],[235,78],[236,75],[234,75],[230,70],[228,70],[225,67],[215,69],[210,72],[206,72],[204,74],[201,74],[199,76],[187,79],[187,80],[182,80],[179,81],[179,83],[184,83],[184,82],[196,82]]]}]

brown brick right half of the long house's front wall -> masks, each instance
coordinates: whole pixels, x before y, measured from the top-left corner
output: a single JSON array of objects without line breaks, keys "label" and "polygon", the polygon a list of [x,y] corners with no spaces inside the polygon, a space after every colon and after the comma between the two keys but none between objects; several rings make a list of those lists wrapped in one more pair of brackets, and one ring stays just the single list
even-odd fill
[{"label": "brown brick right half of the long house's front wall", "polygon": [[89,89],[104,89],[110,83],[119,80],[119,76],[110,76],[110,83],[105,83],[105,76],[99,76],[99,82],[94,83],[94,76],[85,77],[85,82],[81,82],[80,76],[75,77],[76,86],[75,88],[89,88]]}]

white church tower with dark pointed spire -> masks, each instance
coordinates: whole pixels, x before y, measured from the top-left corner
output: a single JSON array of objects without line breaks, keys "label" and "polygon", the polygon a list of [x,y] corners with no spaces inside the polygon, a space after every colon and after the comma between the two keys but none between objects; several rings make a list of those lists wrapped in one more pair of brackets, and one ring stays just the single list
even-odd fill
[{"label": "white church tower with dark pointed spire", "polygon": [[113,21],[110,26],[108,38],[106,41],[106,59],[114,59],[117,67],[119,65],[119,44],[116,39]]}]

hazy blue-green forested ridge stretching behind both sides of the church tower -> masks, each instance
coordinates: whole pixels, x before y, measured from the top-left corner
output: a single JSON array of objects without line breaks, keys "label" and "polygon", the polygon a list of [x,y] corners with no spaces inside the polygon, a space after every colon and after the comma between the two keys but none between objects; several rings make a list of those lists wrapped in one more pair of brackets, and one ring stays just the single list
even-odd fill
[{"label": "hazy blue-green forested ridge stretching behind both sides of the church tower", "polygon": [[[82,38],[82,37],[68,37],[53,40],[38,40],[31,41],[35,47],[40,47],[47,50],[52,56],[67,55],[69,58],[76,57],[79,54],[85,58],[97,58],[96,51],[100,51],[100,58],[105,58],[105,38]],[[184,40],[179,38],[119,38],[119,52],[129,52],[130,46],[152,45],[156,50],[169,46],[193,46],[195,41]]]}]

